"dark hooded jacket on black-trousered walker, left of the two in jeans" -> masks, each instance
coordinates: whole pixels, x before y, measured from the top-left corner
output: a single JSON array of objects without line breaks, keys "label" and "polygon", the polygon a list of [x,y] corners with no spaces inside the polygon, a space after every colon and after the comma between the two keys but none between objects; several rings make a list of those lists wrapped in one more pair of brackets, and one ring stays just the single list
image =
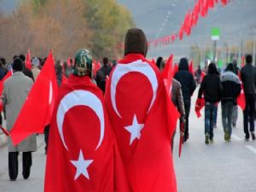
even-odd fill
[{"label": "dark hooded jacket on black-trousered walker, left of the two in jeans", "polygon": [[182,85],[183,101],[190,101],[196,85],[193,75],[189,73],[189,65],[187,63],[180,63],[178,65],[178,72],[175,74],[174,79]]}]

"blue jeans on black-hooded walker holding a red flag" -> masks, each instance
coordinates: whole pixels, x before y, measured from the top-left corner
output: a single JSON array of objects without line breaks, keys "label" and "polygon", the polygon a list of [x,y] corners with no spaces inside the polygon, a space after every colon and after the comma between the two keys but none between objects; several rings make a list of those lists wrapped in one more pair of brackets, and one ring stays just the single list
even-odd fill
[{"label": "blue jeans on black-hooded walker holding a red flag", "polygon": [[213,113],[217,104],[214,102],[206,102],[205,106],[205,134],[209,134],[210,139],[213,138]]}]

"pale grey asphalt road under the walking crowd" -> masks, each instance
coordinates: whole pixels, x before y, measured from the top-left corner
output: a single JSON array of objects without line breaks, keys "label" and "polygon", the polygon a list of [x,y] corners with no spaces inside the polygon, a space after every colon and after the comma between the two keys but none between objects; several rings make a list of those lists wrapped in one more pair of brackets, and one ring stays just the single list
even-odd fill
[{"label": "pale grey asphalt road under the walking crowd", "polygon": [[[226,143],[219,106],[218,127],[214,129],[215,143],[206,145],[204,114],[197,119],[194,108],[193,104],[189,121],[190,137],[183,145],[181,158],[177,155],[178,137],[175,140],[173,156],[178,192],[256,192],[256,142],[244,141],[241,109],[231,142]],[[38,151],[33,153],[32,172],[28,180],[23,179],[20,164],[17,180],[9,181],[7,147],[0,148],[0,192],[43,192],[44,166],[42,135],[38,136]]]}]

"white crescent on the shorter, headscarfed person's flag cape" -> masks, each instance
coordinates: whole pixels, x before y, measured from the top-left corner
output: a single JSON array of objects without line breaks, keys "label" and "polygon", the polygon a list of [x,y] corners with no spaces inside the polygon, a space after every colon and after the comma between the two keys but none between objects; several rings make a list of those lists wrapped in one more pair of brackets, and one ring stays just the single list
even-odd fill
[{"label": "white crescent on the shorter, headscarfed person's flag cape", "polygon": [[99,142],[96,146],[96,149],[99,148],[102,144],[104,131],[105,131],[103,106],[102,106],[101,100],[95,94],[92,94],[88,90],[73,90],[72,92],[68,93],[66,96],[64,96],[61,99],[60,105],[57,109],[56,120],[57,120],[58,131],[60,133],[61,141],[64,147],[68,150],[67,144],[65,143],[64,135],[63,135],[63,122],[64,122],[65,114],[70,108],[73,108],[76,106],[87,106],[91,108],[99,118],[100,124],[101,124],[101,135],[100,135]]}]

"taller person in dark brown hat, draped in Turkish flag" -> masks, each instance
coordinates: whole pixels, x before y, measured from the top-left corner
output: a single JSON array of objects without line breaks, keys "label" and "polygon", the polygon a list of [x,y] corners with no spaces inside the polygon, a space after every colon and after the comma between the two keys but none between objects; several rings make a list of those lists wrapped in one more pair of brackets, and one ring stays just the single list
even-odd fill
[{"label": "taller person in dark brown hat, draped in Turkish flag", "polygon": [[125,57],[110,73],[108,114],[132,192],[176,192],[171,140],[173,119],[159,69],[148,61],[144,32],[131,28]]}]

